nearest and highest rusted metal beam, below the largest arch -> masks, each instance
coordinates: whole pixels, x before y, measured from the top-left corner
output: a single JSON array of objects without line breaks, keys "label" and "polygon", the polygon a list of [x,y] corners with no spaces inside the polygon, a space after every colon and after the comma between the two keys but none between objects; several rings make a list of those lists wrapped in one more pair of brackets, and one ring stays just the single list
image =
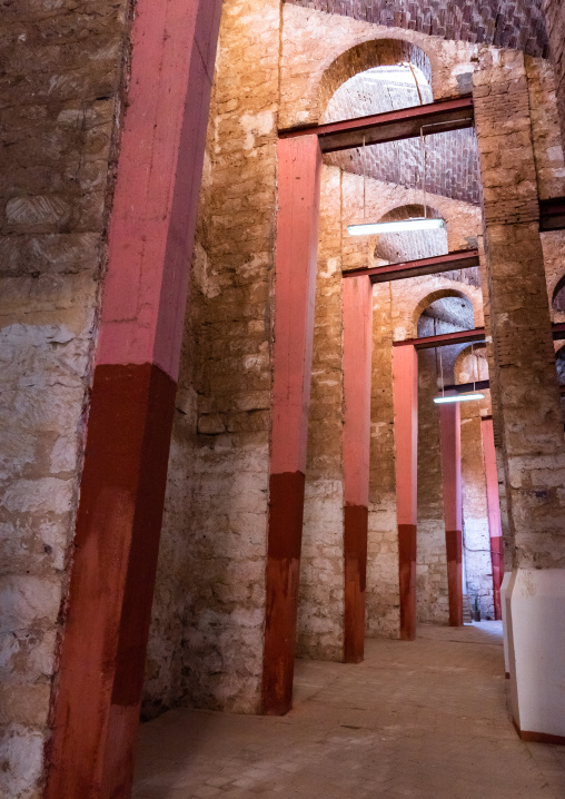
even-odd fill
[{"label": "nearest and highest rusted metal beam, below the largest arch", "polygon": [[374,114],[358,119],[346,119],[328,125],[289,128],[279,131],[279,138],[317,136],[323,152],[337,152],[365,145],[413,139],[424,129],[426,136],[462,130],[475,125],[473,97],[437,100],[425,106],[403,108],[397,111]]}]

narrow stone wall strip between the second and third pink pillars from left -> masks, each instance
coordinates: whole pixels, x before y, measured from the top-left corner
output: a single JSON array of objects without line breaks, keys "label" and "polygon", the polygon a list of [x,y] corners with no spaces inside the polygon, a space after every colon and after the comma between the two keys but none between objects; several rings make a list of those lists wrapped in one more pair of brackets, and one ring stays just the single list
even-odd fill
[{"label": "narrow stone wall strip between the second and third pink pillars from left", "polygon": [[343,660],[341,172],[323,166],[297,655]]}]

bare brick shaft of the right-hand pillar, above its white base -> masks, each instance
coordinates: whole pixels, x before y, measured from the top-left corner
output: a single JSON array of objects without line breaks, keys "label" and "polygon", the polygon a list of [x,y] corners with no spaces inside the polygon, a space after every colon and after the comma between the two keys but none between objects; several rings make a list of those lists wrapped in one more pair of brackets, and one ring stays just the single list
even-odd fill
[{"label": "bare brick shaft of the right-hand pillar, above its white base", "polygon": [[565,474],[565,447],[524,57],[505,52],[494,62],[485,53],[474,93],[489,326],[515,565],[563,565],[565,510],[557,486]]}]

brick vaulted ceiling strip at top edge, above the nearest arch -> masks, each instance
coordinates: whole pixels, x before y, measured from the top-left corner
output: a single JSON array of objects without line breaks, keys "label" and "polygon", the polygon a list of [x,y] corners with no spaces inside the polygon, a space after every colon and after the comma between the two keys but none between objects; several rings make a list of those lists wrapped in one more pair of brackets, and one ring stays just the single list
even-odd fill
[{"label": "brick vaulted ceiling strip at top edge, above the nearest arch", "polygon": [[546,56],[542,0],[286,0],[294,6]]}]

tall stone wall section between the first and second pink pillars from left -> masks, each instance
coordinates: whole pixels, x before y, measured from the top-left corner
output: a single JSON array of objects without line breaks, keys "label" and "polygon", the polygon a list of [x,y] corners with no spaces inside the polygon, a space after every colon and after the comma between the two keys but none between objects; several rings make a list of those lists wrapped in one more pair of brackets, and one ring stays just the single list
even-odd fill
[{"label": "tall stone wall section between the first and second pink pillars from left", "polygon": [[262,670],[276,224],[278,0],[220,28],[145,713],[257,712]]}]

